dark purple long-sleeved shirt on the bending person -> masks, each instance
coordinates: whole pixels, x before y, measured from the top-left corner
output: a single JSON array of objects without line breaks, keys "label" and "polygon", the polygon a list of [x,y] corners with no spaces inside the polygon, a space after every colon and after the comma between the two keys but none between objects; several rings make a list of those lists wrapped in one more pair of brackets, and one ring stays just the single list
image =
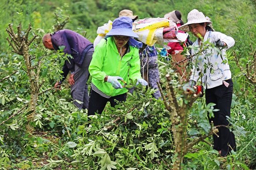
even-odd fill
[{"label": "dark purple long-sleeved shirt on the bending person", "polygon": [[73,59],[68,58],[69,61],[65,61],[63,66],[64,74],[62,74],[64,78],[67,76],[69,70],[71,72],[75,71],[75,64],[79,67],[81,66],[86,52],[93,50],[93,44],[89,40],[72,30],[55,32],[52,35],[51,41],[55,50],[59,50],[60,46],[65,46],[63,52],[73,57]]}]

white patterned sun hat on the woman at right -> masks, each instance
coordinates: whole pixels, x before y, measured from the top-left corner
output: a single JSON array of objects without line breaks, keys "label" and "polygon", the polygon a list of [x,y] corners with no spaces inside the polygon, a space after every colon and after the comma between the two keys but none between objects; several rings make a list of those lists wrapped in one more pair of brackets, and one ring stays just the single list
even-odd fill
[{"label": "white patterned sun hat on the woman at right", "polygon": [[203,15],[203,12],[199,12],[197,9],[193,9],[188,13],[188,22],[180,26],[178,29],[184,32],[189,32],[189,24],[199,24],[207,22],[207,25],[211,25],[212,22],[210,21],[210,18],[209,20],[207,20],[207,18]]}]

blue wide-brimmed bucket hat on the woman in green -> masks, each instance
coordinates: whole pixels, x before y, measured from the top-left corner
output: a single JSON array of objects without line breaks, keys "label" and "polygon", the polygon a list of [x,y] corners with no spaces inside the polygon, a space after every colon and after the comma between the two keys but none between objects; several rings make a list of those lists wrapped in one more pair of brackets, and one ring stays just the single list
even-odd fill
[{"label": "blue wide-brimmed bucket hat on the woman in green", "polygon": [[132,31],[132,19],[127,16],[116,18],[112,23],[112,29],[106,34],[107,37],[113,35],[121,35],[128,37],[139,36]]}]

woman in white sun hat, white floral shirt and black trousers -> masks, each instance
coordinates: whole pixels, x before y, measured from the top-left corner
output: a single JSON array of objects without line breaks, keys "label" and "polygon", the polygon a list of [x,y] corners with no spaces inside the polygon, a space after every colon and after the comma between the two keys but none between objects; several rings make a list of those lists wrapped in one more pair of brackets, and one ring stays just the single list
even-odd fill
[{"label": "woman in white sun hat, white floral shirt and black trousers", "polygon": [[[197,40],[192,45],[193,69],[189,79],[191,86],[194,86],[198,80],[202,80],[205,90],[206,103],[215,103],[214,117],[209,116],[210,123],[213,122],[219,130],[214,135],[214,149],[222,156],[226,156],[231,150],[236,151],[236,142],[234,134],[228,126],[230,122],[230,107],[233,94],[233,81],[231,79],[230,66],[226,58],[226,50],[233,47],[235,41],[232,37],[223,33],[215,32],[211,27],[210,18],[205,17],[202,12],[193,9],[188,13],[188,22],[179,27],[179,30],[191,31]],[[201,45],[203,42],[209,42],[207,45],[214,44],[215,48],[207,48],[203,52],[200,49],[205,48]],[[209,46],[208,46],[209,47]],[[202,74],[202,78],[200,78]]]}]

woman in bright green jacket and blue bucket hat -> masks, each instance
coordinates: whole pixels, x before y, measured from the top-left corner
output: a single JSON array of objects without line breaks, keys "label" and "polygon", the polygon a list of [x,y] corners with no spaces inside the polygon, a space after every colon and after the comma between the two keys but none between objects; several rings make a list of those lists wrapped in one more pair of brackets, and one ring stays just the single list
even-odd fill
[{"label": "woman in bright green jacket and blue bucket hat", "polygon": [[88,115],[101,114],[108,101],[112,107],[117,105],[115,100],[125,101],[128,89],[123,88],[123,81],[129,84],[131,78],[137,79],[137,84],[147,85],[140,74],[139,47],[142,43],[132,37],[138,37],[132,31],[132,19],[119,17],[113,21],[105,39],[95,47],[89,66],[92,83]]}]

